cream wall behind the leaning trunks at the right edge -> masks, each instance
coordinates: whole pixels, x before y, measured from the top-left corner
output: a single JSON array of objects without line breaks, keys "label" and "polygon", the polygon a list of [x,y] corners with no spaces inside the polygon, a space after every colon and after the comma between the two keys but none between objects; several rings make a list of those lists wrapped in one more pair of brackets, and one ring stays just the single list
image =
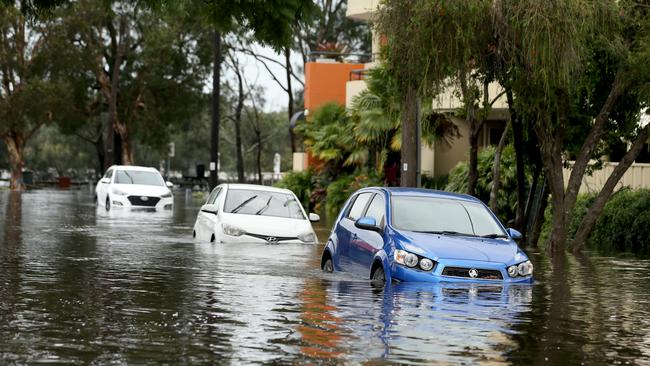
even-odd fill
[{"label": "cream wall behind the leaning trunks at the right edge", "polygon": [[[595,171],[590,176],[585,175],[585,177],[582,179],[582,185],[580,186],[580,193],[599,192],[617,165],[618,163],[604,163],[602,169]],[[570,175],[571,169],[565,168],[565,185],[569,183]],[[623,178],[621,178],[621,180],[616,185],[615,190],[621,189],[622,187],[650,188],[650,164],[632,164],[632,166],[630,166],[627,172],[625,172],[623,175]]]}]

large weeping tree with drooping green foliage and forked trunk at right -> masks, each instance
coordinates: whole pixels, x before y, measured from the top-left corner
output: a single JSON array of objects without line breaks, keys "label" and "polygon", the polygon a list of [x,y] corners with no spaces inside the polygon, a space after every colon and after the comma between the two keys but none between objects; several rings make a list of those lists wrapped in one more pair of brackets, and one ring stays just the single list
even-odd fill
[{"label": "large weeping tree with drooping green foliage and forked trunk at right", "polygon": [[[506,88],[511,110],[518,120],[529,121],[539,143],[553,207],[547,248],[561,254],[582,178],[607,131],[632,144],[585,216],[583,235],[648,138],[650,127],[635,122],[650,100],[649,5],[636,0],[386,1],[378,21],[388,39],[387,67],[402,96],[414,90],[435,95],[454,75],[461,87],[464,75],[477,74]],[[475,93],[462,94],[467,105],[467,95]],[[565,185],[564,159],[570,151],[575,163]]]}]

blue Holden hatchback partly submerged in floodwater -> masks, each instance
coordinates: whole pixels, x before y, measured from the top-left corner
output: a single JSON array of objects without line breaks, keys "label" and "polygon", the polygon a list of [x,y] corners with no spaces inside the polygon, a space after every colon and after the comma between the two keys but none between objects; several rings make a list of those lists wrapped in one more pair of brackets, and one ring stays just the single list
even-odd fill
[{"label": "blue Holden hatchback partly submerged in floodwater", "polygon": [[480,200],[415,188],[364,188],[336,219],[324,271],[374,282],[529,283],[533,265]]}]

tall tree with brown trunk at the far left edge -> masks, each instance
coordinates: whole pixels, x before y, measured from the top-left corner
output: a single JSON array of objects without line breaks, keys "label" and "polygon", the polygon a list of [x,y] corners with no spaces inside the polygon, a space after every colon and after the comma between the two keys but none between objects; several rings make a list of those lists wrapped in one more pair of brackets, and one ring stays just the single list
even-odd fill
[{"label": "tall tree with brown trunk at the far left edge", "polygon": [[27,142],[44,124],[61,120],[71,99],[67,82],[52,67],[57,50],[50,24],[26,19],[14,6],[0,7],[0,138],[12,189],[22,186]]}]

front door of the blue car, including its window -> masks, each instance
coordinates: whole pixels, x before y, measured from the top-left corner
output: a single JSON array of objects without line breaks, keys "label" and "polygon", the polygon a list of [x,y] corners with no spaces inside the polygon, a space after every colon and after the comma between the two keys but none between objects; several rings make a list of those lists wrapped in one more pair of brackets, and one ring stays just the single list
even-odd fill
[{"label": "front door of the blue car, including its window", "polygon": [[[372,217],[380,228],[385,224],[386,204],[382,194],[377,193],[372,197],[364,217]],[[362,276],[370,276],[370,269],[375,254],[384,247],[383,234],[372,230],[364,230],[354,227],[353,237],[350,241],[350,258],[353,272]]]}]

